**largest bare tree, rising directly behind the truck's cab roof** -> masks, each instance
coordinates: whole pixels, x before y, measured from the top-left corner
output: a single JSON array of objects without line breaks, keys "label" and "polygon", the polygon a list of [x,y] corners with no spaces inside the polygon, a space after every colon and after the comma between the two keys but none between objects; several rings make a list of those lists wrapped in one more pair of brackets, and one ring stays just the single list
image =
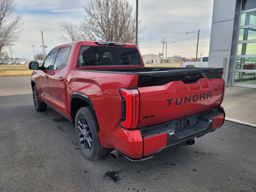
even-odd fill
[{"label": "largest bare tree, rising directly behind the truck's cab roof", "polygon": [[[84,38],[135,43],[136,14],[128,0],[90,0],[84,10],[86,15],[81,23]],[[143,30],[139,25],[138,34]]]}]

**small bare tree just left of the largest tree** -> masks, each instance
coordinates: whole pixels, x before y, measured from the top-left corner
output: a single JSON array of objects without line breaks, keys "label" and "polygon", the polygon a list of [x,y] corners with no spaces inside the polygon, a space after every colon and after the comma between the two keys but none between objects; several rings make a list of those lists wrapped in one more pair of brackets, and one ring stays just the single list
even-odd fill
[{"label": "small bare tree just left of the largest tree", "polygon": [[82,32],[78,24],[63,20],[59,22],[60,30],[62,30],[59,39],[64,42],[73,42],[82,40]]}]

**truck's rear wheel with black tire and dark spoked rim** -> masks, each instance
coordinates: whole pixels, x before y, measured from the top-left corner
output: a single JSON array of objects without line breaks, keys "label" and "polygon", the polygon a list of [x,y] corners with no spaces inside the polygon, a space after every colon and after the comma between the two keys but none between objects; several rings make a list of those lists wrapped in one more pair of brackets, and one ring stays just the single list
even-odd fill
[{"label": "truck's rear wheel with black tire and dark spoked rim", "polygon": [[82,107],[78,110],[75,119],[76,140],[79,148],[88,160],[97,160],[108,152],[100,144],[98,137],[98,124],[90,107]]}]

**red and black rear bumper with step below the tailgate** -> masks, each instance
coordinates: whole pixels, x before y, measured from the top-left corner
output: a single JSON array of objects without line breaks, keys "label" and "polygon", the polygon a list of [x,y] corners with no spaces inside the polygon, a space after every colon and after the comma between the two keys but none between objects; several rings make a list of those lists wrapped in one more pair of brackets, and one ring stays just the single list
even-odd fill
[{"label": "red and black rear bumper with step below the tailgate", "polygon": [[113,128],[99,123],[98,135],[102,146],[115,148],[130,157],[128,159],[144,160],[167,147],[184,144],[190,139],[215,131],[222,126],[224,118],[224,109],[218,107],[136,130],[125,130],[119,125]]}]

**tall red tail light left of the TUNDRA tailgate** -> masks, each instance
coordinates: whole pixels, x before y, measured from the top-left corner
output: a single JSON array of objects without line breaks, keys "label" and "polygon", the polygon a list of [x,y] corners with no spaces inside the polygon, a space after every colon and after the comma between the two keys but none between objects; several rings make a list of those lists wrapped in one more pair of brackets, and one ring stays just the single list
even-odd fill
[{"label": "tall red tail light left of the TUNDRA tailgate", "polygon": [[140,112],[138,89],[120,89],[122,98],[122,118],[120,126],[126,129],[137,128]]}]

